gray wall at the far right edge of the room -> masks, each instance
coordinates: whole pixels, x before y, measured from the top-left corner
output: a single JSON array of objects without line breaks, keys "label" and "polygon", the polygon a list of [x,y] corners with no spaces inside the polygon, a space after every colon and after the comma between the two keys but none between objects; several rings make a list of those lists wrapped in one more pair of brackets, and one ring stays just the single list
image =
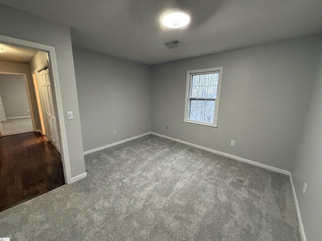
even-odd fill
[{"label": "gray wall at the far right edge of the room", "polygon": [[[301,144],[291,173],[308,241],[322,237],[322,52]],[[305,194],[303,185],[307,183]]]}]

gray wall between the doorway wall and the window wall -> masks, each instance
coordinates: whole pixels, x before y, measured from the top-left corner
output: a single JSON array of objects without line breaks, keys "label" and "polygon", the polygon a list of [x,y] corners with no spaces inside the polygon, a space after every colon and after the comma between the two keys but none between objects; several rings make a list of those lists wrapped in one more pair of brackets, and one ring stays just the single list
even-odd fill
[{"label": "gray wall between the doorway wall and the window wall", "polygon": [[149,132],[150,66],[79,48],[73,55],[84,150]]}]

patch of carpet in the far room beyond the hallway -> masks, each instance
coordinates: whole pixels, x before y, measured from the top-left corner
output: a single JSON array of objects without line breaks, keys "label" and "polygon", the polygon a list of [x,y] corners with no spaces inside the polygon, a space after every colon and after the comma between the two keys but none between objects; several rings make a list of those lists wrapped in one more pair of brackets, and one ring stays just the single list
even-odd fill
[{"label": "patch of carpet in the far room beyond the hallway", "polygon": [[31,117],[7,119],[7,121],[1,122],[1,125],[2,136],[11,136],[34,131]]}]

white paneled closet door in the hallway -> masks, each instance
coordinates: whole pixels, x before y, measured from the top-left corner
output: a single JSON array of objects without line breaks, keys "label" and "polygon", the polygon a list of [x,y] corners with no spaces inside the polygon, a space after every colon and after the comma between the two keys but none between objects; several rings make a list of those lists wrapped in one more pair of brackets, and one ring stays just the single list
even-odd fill
[{"label": "white paneled closet door in the hallway", "polygon": [[49,127],[50,141],[60,152],[57,121],[48,68],[40,71],[39,76],[41,79],[42,93],[44,94],[43,100],[45,101],[46,120]]}]

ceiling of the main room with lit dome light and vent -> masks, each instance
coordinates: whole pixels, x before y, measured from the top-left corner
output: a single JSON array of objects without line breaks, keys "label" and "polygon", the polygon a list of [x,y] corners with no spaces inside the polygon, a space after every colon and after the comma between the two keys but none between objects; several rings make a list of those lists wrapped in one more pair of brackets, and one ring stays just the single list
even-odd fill
[{"label": "ceiling of the main room with lit dome light and vent", "polygon": [[[74,46],[146,64],[322,33],[321,0],[0,0],[71,27]],[[184,29],[160,26],[169,9]],[[165,42],[179,40],[177,49]]]}]

